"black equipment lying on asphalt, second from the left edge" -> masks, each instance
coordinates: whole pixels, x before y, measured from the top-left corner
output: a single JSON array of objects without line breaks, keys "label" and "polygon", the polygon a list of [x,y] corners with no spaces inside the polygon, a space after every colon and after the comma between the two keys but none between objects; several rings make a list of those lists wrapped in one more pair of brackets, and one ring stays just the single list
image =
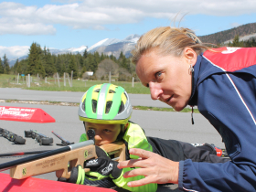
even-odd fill
[{"label": "black equipment lying on asphalt, second from the left edge", "polygon": [[24,131],[24,133],[25,137],[32,137],[32,139],[35,139],[40,145],[48,145],[53,143],[52,137],[38,133],[36,130]]}]

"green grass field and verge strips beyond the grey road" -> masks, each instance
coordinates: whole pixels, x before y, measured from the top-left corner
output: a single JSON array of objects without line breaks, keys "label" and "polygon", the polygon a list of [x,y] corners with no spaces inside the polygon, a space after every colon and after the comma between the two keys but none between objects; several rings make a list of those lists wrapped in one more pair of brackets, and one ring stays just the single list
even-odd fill
[{"label": "green grass field and verge strips beyond the grey road", "polygon": [[[26,85],[26,77],[20,77],[19,84],[16,84],[16,76],[15,75],[0,75],[0,87],[18,87],[27,90],[37,90],[37,91],[87,91],[92,85],[101,84],[109,82],[108,80],[73,80],[73,86],[69,86],[69,80],[66,80],[66,86],[64,86],[63,79],[55,80],[53,78],[48,78],[48,83],[45,80],[37,81],[36,77],[32,78],[32,82],[30,83],[30,88],[27,88]],[[39,83],[39,86],[37,85]],[[140,82],[134,82],[134,87],[132,87],[132,82],[123,82],[123,81],[112,81],[112,84],[122,86],[128,93],[133,94],[150,94],[148,88],[144,87]],[[11,100],[5,100],[6,102],[12,102]],[[14,101],[14,100],[13,100]],[[48,101],[49,104],[60,104],[58,101]],[[74,103],[72,103],[74,105]],[[76,103],[75,105],[79,105]],[[175,112],[173,108],[158,108],[158,107],[144,107],[144,106],[134,106],[134,110],[145,110],[145,111],[162,111],[162,112]],[[191,109],[185,108],[181,112],[191,112]],[[195,113],[199,113],[197,109],[194,109]]]}]

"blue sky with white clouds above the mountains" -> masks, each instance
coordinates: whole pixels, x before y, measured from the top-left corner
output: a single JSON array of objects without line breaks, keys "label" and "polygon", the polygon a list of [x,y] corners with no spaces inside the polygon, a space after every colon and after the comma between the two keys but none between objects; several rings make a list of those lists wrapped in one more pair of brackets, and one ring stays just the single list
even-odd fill
[{"label": "blue sky with white clouds above the mountains", "polygon": [[90,48],[155,27],[188,27],[205,36],[255,22],[255,0],[0,1],[0,57],[24,56],[33,42],[41,48]]}]

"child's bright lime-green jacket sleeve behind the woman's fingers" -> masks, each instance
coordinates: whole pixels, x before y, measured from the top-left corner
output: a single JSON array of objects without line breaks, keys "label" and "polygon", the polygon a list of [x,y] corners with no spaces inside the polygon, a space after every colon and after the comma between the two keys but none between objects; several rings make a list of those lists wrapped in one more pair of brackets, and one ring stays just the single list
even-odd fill
[{"label": "child's bright lime-green jacket sleeve behind the woman's fingers", "polygon": [[[129,127],[127,128],[126,133],[123,135],[123,140],[126,144],[128,144],[128,150],[131,148],[140,148],[147,151],[153,151],[151,144],[148,143],[146,136],[144,134],[143,129],[134,123],[130,123]],[[127,146],[126,146],[127,147]],[[139,157],[136,155],[130,155],[131,159],[138,159]],[[157,189],[157,184],[147,184],[141,187],[128,187],[127,184],[130,181],[136,181],[144,178],[144,176],[133,176],[129,178],[124,178],[123,174],[127,171],[131,171],[134,168],[123,168],[123,172],[121,176],[119,176],[117,179],[113,179],[112,181],[115,183],[118,187],[123,187],[129,191],[147,191],[147,192],[155,192]]]}]

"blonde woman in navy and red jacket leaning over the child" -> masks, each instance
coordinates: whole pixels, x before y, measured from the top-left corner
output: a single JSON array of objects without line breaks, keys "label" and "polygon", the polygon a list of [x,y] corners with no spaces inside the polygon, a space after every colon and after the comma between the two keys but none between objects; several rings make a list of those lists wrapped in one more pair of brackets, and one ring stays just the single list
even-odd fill
[{"label": "blonde woman in navy and red jacket leaning over the child", "polygon": [[197,105],[221,135],[231,161],[174,162],[130,149],[141,159],[118,167],[142,167],[123,176],[145,177],[128,186],[175,183],[184,191],[256,190],[255,55],[256,48],[208,48],[192,30],[182,27],[157,27],[139,39],[133,63],[152,99],[177,112],[187,104]]}]

